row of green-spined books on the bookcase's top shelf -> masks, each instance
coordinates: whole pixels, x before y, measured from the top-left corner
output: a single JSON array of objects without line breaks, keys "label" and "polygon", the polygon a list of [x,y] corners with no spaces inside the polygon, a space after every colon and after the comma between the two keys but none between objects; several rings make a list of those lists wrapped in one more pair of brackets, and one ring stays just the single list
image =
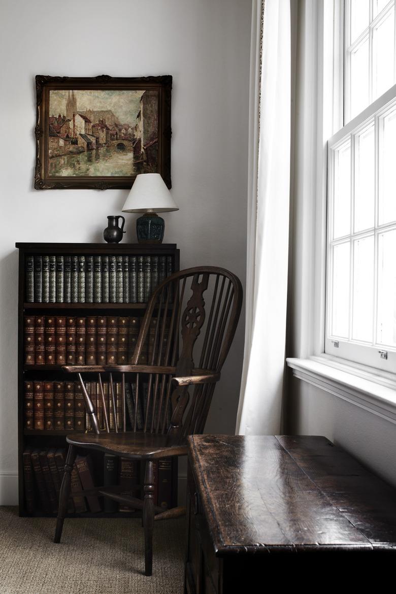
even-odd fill
[{"label": "row of green-spined books on the bookcase's top shelf", "polygon": [[147,303],[171,255],[28,255],[27,303]]}]

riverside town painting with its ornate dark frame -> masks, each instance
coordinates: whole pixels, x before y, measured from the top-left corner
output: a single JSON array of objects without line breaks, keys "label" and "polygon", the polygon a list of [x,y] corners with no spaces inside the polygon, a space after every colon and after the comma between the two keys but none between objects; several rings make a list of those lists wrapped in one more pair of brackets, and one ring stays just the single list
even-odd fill
[{"label": "riverside town painting with its ornate dark frame", "polygon": [[36,76],[36,189],[131,188],[170,180],[172,76]]}]

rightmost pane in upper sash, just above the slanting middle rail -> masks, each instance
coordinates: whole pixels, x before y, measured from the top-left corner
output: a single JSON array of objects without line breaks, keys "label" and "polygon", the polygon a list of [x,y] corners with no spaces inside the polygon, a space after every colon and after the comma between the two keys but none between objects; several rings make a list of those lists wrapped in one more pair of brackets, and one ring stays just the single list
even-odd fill
[{"label": "rightmost pane in upper sash, just above the slanting middle rail", "polygon": [[394,84],[394,9],[373,30],[373,100]]}]

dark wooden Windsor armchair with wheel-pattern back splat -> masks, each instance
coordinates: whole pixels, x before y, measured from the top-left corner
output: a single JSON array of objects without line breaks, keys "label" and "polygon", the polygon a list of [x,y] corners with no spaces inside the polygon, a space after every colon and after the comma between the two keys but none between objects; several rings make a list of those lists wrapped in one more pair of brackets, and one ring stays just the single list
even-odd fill
[{"label": "dark wooden Windsor armchair with wheel-pattern back splat", "polygon": [[[154,505],[154,462],[187,453],[187,437],[202,433],[214,388],[229,352],[242,307],[239,279],[224,268],[188,268],[169,276],[153,292],[142,320],[131,365],[72,365],[84,395],[93,432],[66,437],[69,444],[59,497],[54,542],[60,542],[71,492],[71,472],[78,448],[100,450],[145,464],[144,497],[121,494],[122,487],[99,486],[73,493],[102,495],[142,510],[145,542],[145,575],[153,564],[154,519],[176,517],[185,508],[165,510]],[[150,346],[147,349],[147,342]],[[141,364],[147,355],[147,365]],[[198,361],[195,367],[194,361]],[[96,407],[85,387],[83,374],[96,373],[103,405],[104,431]],[[113,374],[121,374],[121,426],[117,424]],[[102,374],[109,374],[109,397],[114,412],[114,431],[109,429]],[[134,383],[134,402],[126,431],[125,375]],[[143,390],[142,386],[145,389]],[[139,416],[139,410],[142,414]]]}]

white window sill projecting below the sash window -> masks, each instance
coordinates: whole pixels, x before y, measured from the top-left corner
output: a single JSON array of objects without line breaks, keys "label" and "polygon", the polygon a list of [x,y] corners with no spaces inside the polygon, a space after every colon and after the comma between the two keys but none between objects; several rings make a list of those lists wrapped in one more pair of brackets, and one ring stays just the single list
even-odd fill
[{"label": "white window sill projecting below the sash window", "polygon": [[325,356],[287,358],[294,377],[396,424],[396,380],[337,363]]}]

